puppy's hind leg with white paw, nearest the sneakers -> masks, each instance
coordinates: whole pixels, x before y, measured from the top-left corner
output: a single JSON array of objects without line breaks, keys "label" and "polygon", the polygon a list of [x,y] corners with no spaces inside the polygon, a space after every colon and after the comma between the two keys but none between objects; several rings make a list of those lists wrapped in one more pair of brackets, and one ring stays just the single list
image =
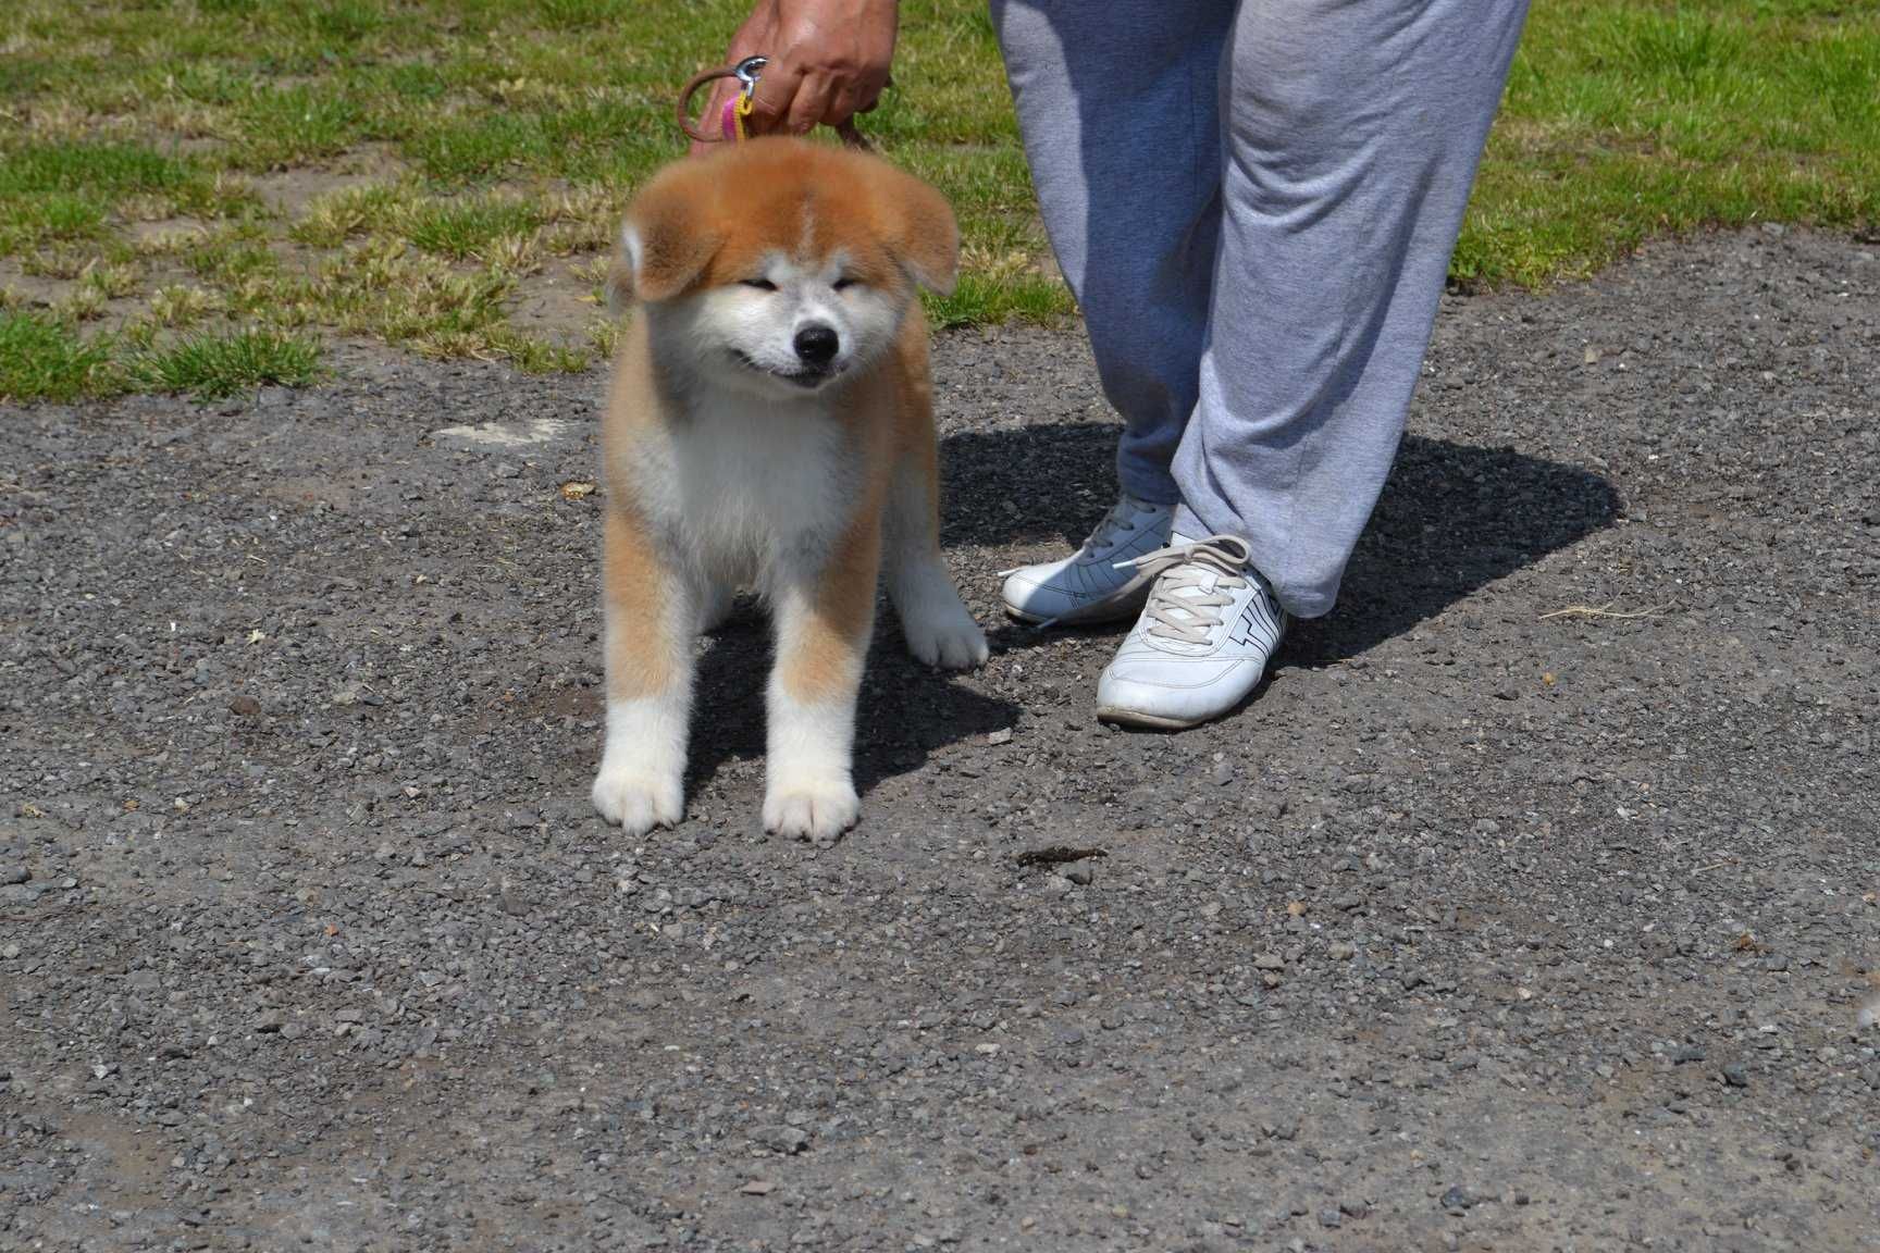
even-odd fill
[{"label": "puppy's hind leg with white paw, nearest the sneakers", "polygon": [[887,490],[887,599],[916,661],[970,671],[985,663],[985,633],[940,558],[940,456],[931,421],[921,423],[916,443]]}]

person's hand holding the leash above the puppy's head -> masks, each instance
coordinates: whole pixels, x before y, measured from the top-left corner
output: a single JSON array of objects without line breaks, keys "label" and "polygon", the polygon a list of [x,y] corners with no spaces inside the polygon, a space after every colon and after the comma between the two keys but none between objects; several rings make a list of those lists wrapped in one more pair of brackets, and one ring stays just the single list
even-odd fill
[{"label": "person's hand holding the leash above the puppy's head", "polygon": [[[752,135],[805,135],[818,126],[842,126],[867,113],[887,86],[895,58],[899,0],[758,0],[731,36],[729,64],[769,56],[752,94],[744,130]],[[737,100],[737,81],[720,79],[705,103],[701,130],[718,131],[718,118]],[[711,145],[694,143],[694,152]]]}]

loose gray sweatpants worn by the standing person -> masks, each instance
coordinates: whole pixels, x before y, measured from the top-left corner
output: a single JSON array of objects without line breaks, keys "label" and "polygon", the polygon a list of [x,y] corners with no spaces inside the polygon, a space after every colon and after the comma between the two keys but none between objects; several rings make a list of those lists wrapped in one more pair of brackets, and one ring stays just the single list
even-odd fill
[{"label": "loose gray sweatpants worn by the standing person", "polygon": [[1527,0],[993,0],[1124,490],[1331,609]]}]

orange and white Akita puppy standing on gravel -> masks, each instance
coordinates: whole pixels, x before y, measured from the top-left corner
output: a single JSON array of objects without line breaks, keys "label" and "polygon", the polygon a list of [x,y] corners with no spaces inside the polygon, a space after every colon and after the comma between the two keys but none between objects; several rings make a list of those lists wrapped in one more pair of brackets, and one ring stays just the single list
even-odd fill
[{"label": "orange and white Akita puppy standing on gravel", "polygon": [[763,825],[780,834],[825,840],[857,817],[884,564],[908,652],[985,661],[940,560],[916,299],[951,287],[957,252],[936,190],[799,139],[679,162],[630,207],[609,286],[634,317],[603,426],[607,821],[681,819],[694,639],[733,588],[775,618]]}]

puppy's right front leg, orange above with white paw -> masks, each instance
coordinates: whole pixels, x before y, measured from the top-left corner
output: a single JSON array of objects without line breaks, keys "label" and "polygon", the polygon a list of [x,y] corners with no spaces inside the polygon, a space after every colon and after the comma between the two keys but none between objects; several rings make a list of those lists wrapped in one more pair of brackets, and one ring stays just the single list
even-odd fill
[{"label": "puppy's right front leg, orange above with white paw", "polygon": [[823,569],[776,596],[763,827],[833,840],[854,827],[855,695],[874,631],[880,511],[850,524]]}]

